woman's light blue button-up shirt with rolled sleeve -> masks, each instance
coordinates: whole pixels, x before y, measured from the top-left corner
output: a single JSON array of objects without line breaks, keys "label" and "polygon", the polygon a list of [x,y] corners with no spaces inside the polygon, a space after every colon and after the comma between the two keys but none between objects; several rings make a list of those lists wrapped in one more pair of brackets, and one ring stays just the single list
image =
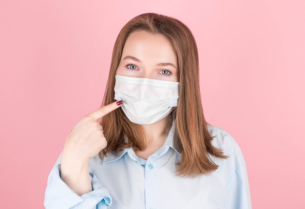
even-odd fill
[{"label": "woman's light blue button-up shirt with rolled sleeve", "polygon": [[245,161],[234,139],[208,126],[213,146],[228,159],[210,156],[219,168],[209,175],[180,177],[175,164],[173,128],[164,145],[147,160],[132,148],[90,160],[93,191],[78,196],[60,179],[60,156],[45,192],[47,209],[251,209]]}]

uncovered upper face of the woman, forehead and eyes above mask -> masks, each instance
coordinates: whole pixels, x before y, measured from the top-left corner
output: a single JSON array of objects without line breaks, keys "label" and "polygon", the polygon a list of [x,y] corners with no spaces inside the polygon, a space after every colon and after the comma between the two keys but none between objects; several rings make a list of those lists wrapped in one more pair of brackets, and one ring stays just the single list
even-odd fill
[{"label": "uncovered upper face of the woman, forehead and eyes above mask", "polygon": [[117,75],[178,81],[177,56],[163,35],[135,31],[123,48]]}]

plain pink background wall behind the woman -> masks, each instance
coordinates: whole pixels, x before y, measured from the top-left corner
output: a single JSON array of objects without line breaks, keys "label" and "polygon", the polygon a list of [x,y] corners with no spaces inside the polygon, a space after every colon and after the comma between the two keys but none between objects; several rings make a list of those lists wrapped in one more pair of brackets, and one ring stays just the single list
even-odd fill
[{"label": "plain pink background wall behind the woman", "polygon": [[145,12],[193,32],[206,118],[239,143],[253,208],[304,209],[304,0],[2,0],[0,208],[43,208],[67,133],[101,104],[119,30]]}]

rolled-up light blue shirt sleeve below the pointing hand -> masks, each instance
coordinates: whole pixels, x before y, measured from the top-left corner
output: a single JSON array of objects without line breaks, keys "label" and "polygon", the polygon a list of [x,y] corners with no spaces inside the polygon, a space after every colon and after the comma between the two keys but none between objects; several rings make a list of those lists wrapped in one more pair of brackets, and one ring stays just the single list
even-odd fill
[{"label": "rolled-up light blue shirt sleeve below the pointing hand", "polygon": [[[57,163],[60,162],[60,157]],[[46,209],[106,209],[111,205],[109,191],[102,186],[94,173],[89,173],[93,191],[77,195],[60,178],[60,164],[51,170],[45,190]]]}]

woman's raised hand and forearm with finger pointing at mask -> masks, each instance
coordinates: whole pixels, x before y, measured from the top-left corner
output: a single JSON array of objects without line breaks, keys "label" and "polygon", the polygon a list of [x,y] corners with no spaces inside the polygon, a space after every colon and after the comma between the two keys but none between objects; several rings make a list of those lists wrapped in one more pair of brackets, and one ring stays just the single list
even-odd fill
[{"label": "woman's raised hand and forearm with finger pointing at mask", "polygon": [[122,103],[111,103],[84,116],[66,138],[61,155],[61,179],[78,195],[92,190],[89,160],[107,146],[103,128],[97,121]]}]

